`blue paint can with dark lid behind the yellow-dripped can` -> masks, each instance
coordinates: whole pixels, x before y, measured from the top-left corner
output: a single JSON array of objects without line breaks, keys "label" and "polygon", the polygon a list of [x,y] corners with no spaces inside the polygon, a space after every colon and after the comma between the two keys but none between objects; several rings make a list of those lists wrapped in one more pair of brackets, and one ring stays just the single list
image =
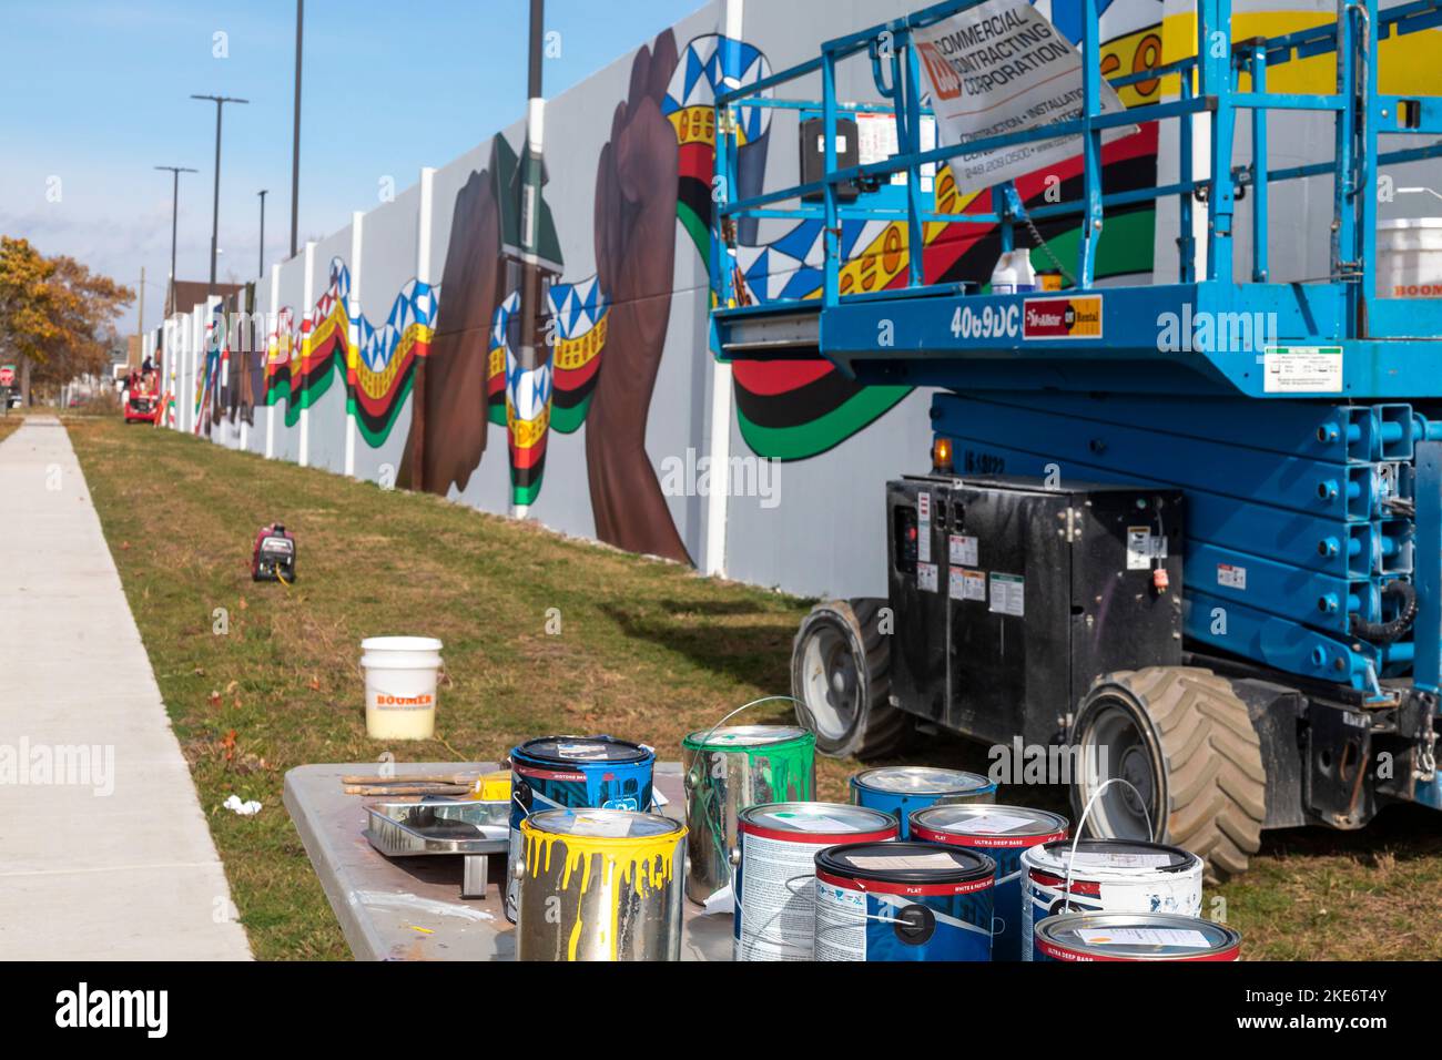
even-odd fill
[{"label": "blue paint can with dark lid behind the yellow-dripped can", "polygon": [[[613,736],[545,736],[510,751],[510,858],[521,858],[521,822],[548,809],[652,808],[649,747]],[[506,919],[516,920],[516,880],[509,875]]]}]

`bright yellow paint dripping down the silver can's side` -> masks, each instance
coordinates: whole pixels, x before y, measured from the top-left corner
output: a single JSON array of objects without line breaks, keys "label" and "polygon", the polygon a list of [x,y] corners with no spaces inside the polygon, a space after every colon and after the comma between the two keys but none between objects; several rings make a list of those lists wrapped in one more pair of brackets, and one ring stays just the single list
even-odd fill
[{"label": "bright yellow paint dripping down the silver can's side", "polygon": [[[529,821],[521,822],[521,835],[526,849],[526,871],[532,878],[541,873],[551,871],[551,849],[557,842],[565,854],[565,870],[561,873],[561,890],[571,890],[571,880],[580,870],[580,888],[575,897],[575,926],[567,939],[567,960],[575,960],[580,948],[584,924],[581,909],[585,894],[594,878],[601,881],[611,896],[609,923],[600,926],[601,943],[616,960],[616,942],[620,927],[620,893],[616,881],[627,884],[633,891],[646,896],[659,891],[673,878],[675,854],[678,845],[686,838],[686,829],[678,828],[675,832],[647,836],[598,836],[598,835],[562,835],[558,832],[542,832],[532,826]],[[593,870],[593,865],[596,867]],[[620,875],[617,877],[617,871]]]}]

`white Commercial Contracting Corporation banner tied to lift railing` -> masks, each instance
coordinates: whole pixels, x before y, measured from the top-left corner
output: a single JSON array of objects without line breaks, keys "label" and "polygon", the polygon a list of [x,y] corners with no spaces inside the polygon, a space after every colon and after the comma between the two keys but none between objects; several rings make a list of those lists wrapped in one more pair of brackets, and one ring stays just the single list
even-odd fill
[{"label": "white Commercial Contracting Corporation banner tied to lift railing", "polygon": [[[988,0],[914,32],[947,146],[1082,117],[1082,53],[1030,0]],[[1126,110],[1102,81],[1103,114]],[[1106,130],[1110,143],[1136,125]],[[1082,153],[1079,137],[1037,140],[950,160],[962,193],[981,192]]]}]

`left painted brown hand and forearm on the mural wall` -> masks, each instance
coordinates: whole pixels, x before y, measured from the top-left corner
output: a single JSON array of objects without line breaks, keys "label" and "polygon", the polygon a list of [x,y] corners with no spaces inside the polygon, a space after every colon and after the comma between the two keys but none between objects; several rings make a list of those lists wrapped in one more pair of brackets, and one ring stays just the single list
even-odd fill
[{"label": "left painted brown hand and forearm on the mural wall", "polygon": [[[490,319],[503,293],[500,211],[489,169],[472,173],[456,193],[450,244],[441,270],[435,337],[425,359],[421,415],[411,421],[397,485],[446,495],[466,489],[486,451],[486,371]],[[420,446],[420,464],[412,454]],[[412,470],[420,472],[414,482]]]}]

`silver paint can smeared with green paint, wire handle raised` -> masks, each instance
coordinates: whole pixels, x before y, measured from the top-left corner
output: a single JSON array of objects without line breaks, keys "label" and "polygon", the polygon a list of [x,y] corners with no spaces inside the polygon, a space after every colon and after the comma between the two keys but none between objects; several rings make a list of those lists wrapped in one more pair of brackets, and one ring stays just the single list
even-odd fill
[{"label": "silver paint can smeared with green paint, wire handle raised", "polygon": [[816,787],[816,736],[797,725],[728,725],[681,741],[686,789],[686,897],[731,883],[737,816],[767,802],[805,802]]}]

